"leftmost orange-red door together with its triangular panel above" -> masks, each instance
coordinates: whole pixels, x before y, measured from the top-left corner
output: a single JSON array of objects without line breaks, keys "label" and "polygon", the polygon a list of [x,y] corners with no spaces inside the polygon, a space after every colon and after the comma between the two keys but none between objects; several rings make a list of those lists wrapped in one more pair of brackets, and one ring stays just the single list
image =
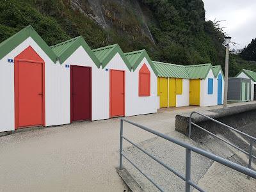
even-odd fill
[{"label": "leftmost orange-red door together with its triangular panel above", "polygon": [[28,47],[15,58],[15,129],[44,125],[44,61]]}]

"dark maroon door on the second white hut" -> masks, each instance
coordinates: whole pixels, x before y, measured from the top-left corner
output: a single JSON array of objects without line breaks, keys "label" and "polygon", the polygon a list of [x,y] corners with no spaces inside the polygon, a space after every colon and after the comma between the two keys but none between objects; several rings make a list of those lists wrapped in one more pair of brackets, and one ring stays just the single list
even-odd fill
[{"label": "dark maroon door on the second white hut", "polygon": [[90,67],[71,65],[71,122],[91,119],[91,82],[92,76]]}]

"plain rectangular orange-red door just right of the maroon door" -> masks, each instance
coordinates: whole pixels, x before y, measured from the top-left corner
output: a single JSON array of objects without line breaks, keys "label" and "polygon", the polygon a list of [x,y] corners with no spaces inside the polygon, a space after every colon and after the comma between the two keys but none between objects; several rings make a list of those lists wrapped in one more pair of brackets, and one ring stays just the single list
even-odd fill
[{"label": "plain rectangular orange-red door just right of the maroon door", "polygon": [[110,70],[110,116],[124,116],[125,72]]}]

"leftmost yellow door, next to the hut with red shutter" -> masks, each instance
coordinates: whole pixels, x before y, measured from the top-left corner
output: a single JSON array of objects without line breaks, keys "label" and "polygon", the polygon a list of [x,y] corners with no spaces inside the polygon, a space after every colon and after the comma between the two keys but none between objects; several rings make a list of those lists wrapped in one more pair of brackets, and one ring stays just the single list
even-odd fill
[{"label": "leftmost yellow door, next to the hut with red shutter", "polygon": [[160,108],[167,108],[167,88],[168,88],[168,79],[165,77],[158,77],[157,79],[157,93],[160,97]]}]

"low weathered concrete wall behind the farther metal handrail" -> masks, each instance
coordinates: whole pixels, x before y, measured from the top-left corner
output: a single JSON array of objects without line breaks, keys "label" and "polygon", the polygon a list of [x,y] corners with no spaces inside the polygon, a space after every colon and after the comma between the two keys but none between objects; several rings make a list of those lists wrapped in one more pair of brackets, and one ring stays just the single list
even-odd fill
[{"label": "low weathered concrete wall behind the farther metal handrail", "polygon": [[[218,120],[224,124],[230,125],[235,129],[239,129],[240,131],[246,132],[245,130],[241,130],[241,127],[243,127],[244,125],[255,124],[256,104],[246,104],[242,106],[229,107],[226,109],[212,109],[209,111],[200,111],[200,113],[207,115],[211,118],[214,118],[215,120]],[[188,135],[189,115],[190,113],[176,115],[176,131]],[[197,114],[193,114],[192,122],[194,122],[197,125],[200,125],[204,129],[207,129],[207,131],[213,132],[214,134],[220,135],[223,133],[227,133],[229,137],[232,137],[232,134],[234,134],[234,132],[228,131],[227,127],[216,124],[215,122],[212,122],[211,120],[208,120],[207,118],[204,118],[203,116]],[[254,127],[250,126],[249,128],[252,129],[246,133],[255,134],[255,131],[253,131]],[[208,134],[205,131],[202,131],[198,127],[191,127],[191,137],[194,140],[200,141],[202,140],[202,138],[206,138],[207,135]],[[234,142],[237,140],[236,135],[234,135],[234,138],[235,140],[230,141]]]}]

